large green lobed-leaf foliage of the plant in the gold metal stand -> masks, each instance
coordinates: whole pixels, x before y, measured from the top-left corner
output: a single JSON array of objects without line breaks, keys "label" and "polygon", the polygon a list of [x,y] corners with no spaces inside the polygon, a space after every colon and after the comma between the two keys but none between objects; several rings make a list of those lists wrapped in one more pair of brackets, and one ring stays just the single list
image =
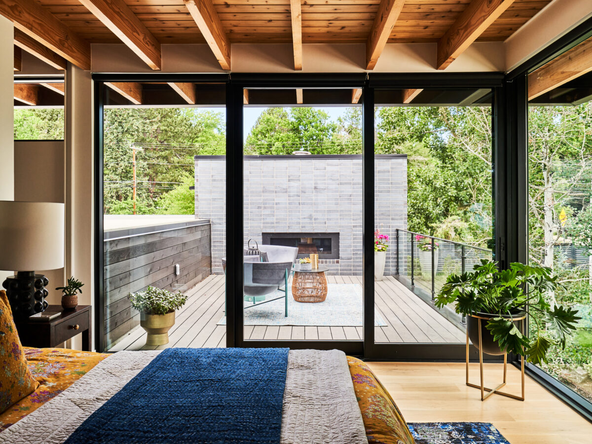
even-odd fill
[{"label": "large green lobed-leaf foliage of the plant in the gold metal stand", "polygon": [[[562,305],[552,307],[545,301],[545,295],[558,285],[549,268],[514,262],[510,269],[498,271],[497,262],[482,259],[473,272],[448,276],[436,297],[436,306],[456,303],[456,313],[464,316],[490,315],[487,330],[502,351],[524,355],[527,361],[540,364],[547,362],[551,345],[565,349],[567,336],[581,319],[577,310]],[[512,322],[525,314],[536,326],[536,336],[522,334]],[[545,333],[552,332],[554,337],[543,333],[545,326]]]}]

